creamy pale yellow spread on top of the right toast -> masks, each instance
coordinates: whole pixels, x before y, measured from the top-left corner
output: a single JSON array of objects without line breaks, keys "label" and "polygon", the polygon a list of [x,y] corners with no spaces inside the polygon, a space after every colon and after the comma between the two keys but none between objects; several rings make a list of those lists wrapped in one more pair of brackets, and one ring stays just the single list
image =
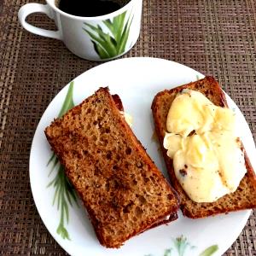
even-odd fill
[{"label": "creamy pale yellow spread on top of the right toast", "polygon": [[164,148],[191,200],[212,202],[236,191],[247,169],[230,108],[183,90],[172,102],[166,128]]}]

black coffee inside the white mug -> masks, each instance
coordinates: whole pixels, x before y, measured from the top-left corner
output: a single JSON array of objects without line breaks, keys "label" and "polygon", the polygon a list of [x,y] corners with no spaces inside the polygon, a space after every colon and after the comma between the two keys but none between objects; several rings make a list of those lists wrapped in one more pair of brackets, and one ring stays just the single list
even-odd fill
[{"label": "black coffee inside the white mug", "polygon": [[58,7],[69,15],[94,17],[108,15],[122,6],[111,0],[61,0]]}]

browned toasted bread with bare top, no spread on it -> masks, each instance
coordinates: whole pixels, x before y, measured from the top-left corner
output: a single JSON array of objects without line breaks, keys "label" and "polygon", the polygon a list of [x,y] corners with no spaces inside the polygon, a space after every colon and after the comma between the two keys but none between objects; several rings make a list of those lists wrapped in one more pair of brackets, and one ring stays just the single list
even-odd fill
[{"label": "browned toasted bread with bare top, no spread on it", "polygon": [[177,218],[177,199],[122,108],[118,96],[100,88],[45,129],[105,247]]}]

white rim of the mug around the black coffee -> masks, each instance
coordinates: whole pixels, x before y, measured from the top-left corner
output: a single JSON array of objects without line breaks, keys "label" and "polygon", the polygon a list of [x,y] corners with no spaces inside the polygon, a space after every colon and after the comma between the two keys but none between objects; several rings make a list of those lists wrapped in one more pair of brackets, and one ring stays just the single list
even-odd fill
[{"label": "white rim of the mug around the black coffee", "polygon": [[[46,3],[52,8],[54,9],[57,13],[59,13],[60,15],[64,15],[68,18],[74,19],[74,20],[108,20],[111,19],[114,16],[120,15],[122,14],[125,9],[129,9],[130,6],[134,3],[137,2],[139,0],[130,0],[129,3],[126,3],[122,8],[117,9],[116,11],[113,11],[112,13],[109,13],[107,15],[98,15],[98,16],[93,16],[93,17],[87,17],[87,16],[76,16],[76,15],[69,15],[65,12],[63,12],[61,9],[57,8],[55,5],[55,0],[50,1],[50,0],[46,0]],[[143,1],[143,0],[142,0]]]}]

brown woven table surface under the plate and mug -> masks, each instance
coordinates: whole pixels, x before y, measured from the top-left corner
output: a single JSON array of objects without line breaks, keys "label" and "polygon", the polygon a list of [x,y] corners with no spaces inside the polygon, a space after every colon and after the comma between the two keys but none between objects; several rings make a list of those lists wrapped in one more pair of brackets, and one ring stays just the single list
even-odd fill
[{"label": "brown woven table surface under the plate and mug", "polygon": [[[58,91],[99,63],[79,59],[61,41],[22,29],[17,12],[28,2],[0,0],[0,254],[62,255],[32,199],[32,137]],[[28,20],[55,27],[43,15]],[[255,32],[253,0],[143,0],[140,38],[123,57],[165,58],[212,75],[244,113],[255,140]],[[256,255],[255,211],[225,255]]]}]

